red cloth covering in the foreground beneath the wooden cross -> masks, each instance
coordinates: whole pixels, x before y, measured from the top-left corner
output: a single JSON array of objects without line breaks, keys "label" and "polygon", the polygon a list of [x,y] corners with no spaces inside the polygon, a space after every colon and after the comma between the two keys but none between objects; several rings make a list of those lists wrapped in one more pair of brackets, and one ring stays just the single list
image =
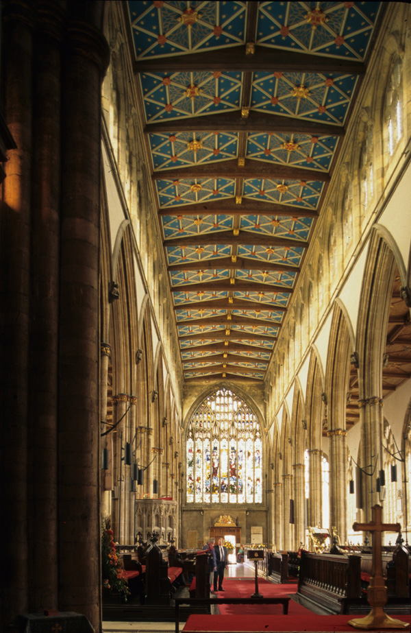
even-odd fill
[{"label": "red cloth covering in the foreground beneath the wooden cross", "polygon": [[[261,593],[261,592],[260,592]],[[353,633],[349,620],[352,615],[190,615],[182,633]],[[393,616],[395,619],[410,623],[410,617]],[[390,631],[399,629],[390,629]],[[410,629],[403,629],[409,631]],[[381,631],[381,629],[375,629]]]}]

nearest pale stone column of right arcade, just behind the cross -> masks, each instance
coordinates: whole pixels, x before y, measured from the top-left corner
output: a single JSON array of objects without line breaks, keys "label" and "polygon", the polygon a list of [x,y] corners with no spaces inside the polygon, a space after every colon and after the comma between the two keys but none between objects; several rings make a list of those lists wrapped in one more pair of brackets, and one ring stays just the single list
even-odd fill
[{"label": "nearest pale stone column of right arcade, just behind the cross", "polygon": [[376,491],[376,479],[379,470],[379,452],[382,438],[382,398],[372,396],[358,401],[361,424],[361,462],[360,466],[366,473],[362,475],[362,521],[371,521],[371,507],[379,503]]}]

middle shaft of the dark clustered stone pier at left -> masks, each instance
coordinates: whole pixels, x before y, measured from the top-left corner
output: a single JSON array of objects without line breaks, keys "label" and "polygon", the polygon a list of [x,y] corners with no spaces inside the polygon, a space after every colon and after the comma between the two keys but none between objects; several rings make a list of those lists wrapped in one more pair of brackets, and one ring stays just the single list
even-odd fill
[{"label": "middle shaft of the dark clustered stone pier at left", "polygon": [[58,608],[58,318],[62,5],[38,6],[33,92],[29,611]]}]

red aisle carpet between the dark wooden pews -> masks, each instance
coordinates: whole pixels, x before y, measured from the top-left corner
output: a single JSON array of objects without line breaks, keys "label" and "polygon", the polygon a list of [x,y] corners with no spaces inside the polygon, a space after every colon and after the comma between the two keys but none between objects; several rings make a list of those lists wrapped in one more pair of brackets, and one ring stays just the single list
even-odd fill
[{"label": "red aisle carpet between the dark wooden pews", "polygon": [[[223,587],[224,593],[219,592],[219,598],[250,598],[256,590],[256,581],[247,578],[244,580],[225,578]],[[275,598],[292,595],[297,592],[297,582],[290,582],[288,584],[274,584],[267,580],[258,579],[258,593],[261,593],[264,598]],[[238,614],[253,614],[258,610],[259,614],[264,615],[277,615],[282,614],[281,604],[219,604],[219,611],[221,615],[238,615]],[[304,615],[310,614],[310,610],[297,604],[297,602],[290,600],[288,603],[288,616],[291,615]]]}]

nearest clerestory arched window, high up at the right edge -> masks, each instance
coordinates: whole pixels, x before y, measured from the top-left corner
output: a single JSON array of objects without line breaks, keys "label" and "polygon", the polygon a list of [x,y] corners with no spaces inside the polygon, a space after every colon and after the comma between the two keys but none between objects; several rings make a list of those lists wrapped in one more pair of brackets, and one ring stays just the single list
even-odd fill
[{"label": "nearest clerestory arched window, high up at the right edge", "polygon": [[388,132],[388,152],[393,156],[397,143],[403,135],[403,82],[402,64],[396,58],[391,67],[386,91],[385,123]]}]

